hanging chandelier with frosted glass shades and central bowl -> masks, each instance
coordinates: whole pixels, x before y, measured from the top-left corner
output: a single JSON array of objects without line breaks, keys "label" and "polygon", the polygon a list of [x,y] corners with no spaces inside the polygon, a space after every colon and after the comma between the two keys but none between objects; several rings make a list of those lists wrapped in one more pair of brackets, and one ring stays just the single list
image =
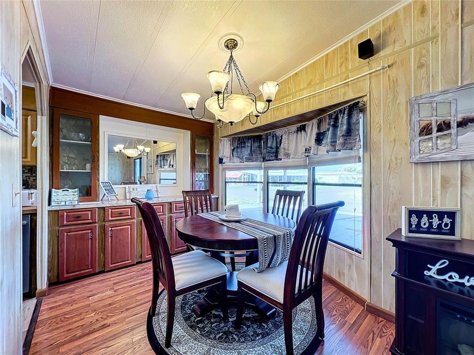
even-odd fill
[{"label": "hanging chandelier with frosted glass shades and central bowl", "polygon": [[[233,51],[237,46],[238,42],[236,39],[227,39],[224,42],[224,47],[226,50],[231,52],[231,55],[224,70],[209,71],[207,73],[207,78],[209,79],[212,88],[212,94],[204,102],[204,113],[202,116],[196,117],[194,115],[197,101],[201,96],[194,92],[185,92],[181,94],[186,107],[191,111],[193,118],[197,120],[204,118],[207,108],[209,111],[214,113],[218,122],[217,127],[219,128],[222,128],[224,123],[229,123],[233,126],[234,123],[243,120],[246,116],[248,116],[248,120],[252,125],[256,125],[258,117],[270,109],[270,104],[275,100],[275,95],[279,88],[278,83],[276,81],[265,81],[260,84],[258,88],[261,91],[265,102],[257,101],[257,96],[250,92],[247,82],[243,78],[234,58]],[[241,94],[234,94],[233,92],[234,76],[237,79]],[[250,113],[253,113],[255,121],[252,121]]]}]

